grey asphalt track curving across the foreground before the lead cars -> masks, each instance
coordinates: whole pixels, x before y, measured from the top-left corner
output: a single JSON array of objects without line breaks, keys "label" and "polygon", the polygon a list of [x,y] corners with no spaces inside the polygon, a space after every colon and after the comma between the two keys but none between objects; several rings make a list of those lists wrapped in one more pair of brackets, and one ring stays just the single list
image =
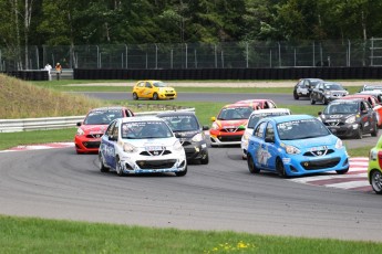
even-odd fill
[{"label": "grey asphalt track curving across the foreground before the lead cars", "polygon": [[0,152],[0,213],[382,241],[381,197],[371,191],[250,174],[239,147],[209,148],[209,165],[190,165],[185,177],[121,178],[101,173],[96,155],[76,155],[73,147]]}]

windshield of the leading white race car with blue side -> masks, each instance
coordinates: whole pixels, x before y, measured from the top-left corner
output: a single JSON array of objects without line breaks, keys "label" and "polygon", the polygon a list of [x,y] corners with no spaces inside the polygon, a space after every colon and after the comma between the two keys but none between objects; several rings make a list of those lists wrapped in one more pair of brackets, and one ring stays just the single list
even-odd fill
[{"label": "windshield of the leading white race car with blue side", "polygon": [[173,133],[163,121],[133,121],[124,123],[121,126],[122,138],[125,139],[149,139],[169,138]]}]

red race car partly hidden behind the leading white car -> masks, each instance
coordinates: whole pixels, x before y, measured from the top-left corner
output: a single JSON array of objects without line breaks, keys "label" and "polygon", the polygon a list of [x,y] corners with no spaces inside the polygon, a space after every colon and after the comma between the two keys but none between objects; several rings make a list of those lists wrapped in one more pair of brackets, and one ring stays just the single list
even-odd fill
[{"label": "red race car partly hidden behind the leading white car", "polygon": [[116,118],[132,116],[134,116],[134,113],[122,106],[91,109],[85,119],[76,124],[79,126],[74,137],[76,154],[99,152],[101,137],[109,124]]}]

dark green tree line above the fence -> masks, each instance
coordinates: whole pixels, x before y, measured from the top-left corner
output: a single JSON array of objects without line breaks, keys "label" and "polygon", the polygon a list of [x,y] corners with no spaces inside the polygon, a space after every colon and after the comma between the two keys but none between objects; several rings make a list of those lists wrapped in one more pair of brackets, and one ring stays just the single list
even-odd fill
[{"label": "dark green tree line above the fence", "polygon": [[0,0],[0,49],[382,36],[376,0]]}]

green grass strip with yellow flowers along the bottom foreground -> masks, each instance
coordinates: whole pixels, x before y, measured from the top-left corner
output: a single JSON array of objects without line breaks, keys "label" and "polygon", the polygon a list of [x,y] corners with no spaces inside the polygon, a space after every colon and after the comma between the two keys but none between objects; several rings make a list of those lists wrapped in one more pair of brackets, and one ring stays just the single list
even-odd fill
[{"label": "green grass strip with yellow flowers along the bottom foreground", "polygon": [[[382,243],[183,231],[0,215],[1,253],[379,254]],[[309,251],[308,251],[309,250]]]}]

